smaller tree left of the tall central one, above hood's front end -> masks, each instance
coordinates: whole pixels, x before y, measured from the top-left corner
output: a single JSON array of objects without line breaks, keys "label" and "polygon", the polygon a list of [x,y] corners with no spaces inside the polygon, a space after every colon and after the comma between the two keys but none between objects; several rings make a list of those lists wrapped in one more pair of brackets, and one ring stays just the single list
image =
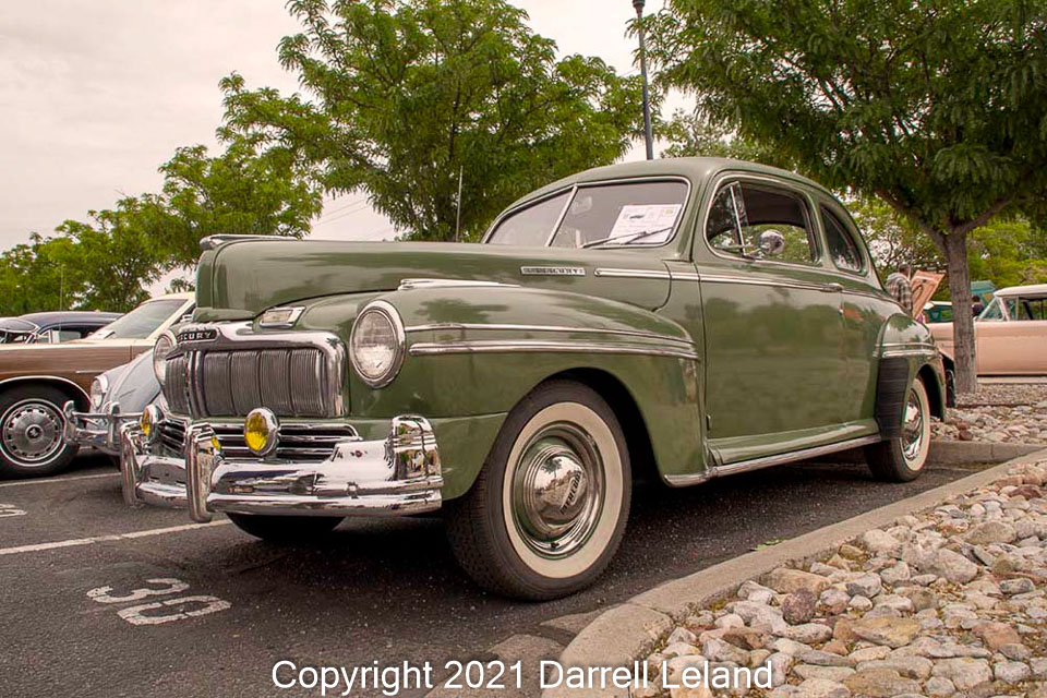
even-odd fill
[{"label": "smaller tree left of the tall central one, above hood's front end", "polygon": [[230,137],[208,157],[203,145],[180,147],[160,166],[160,195],[140,197],[142,229],[166,255],[165,267],[193,268],[200,241],[213,234],[302,238],[323,208],[318,186],[281,148]]}]

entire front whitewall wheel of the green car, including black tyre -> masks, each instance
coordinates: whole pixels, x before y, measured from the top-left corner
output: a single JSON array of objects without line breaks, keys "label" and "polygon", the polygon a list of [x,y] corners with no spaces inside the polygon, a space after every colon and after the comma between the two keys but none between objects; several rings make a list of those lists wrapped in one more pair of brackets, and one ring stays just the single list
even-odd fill
[{"label": "entire front whitewall wheel of the green car, including black tyre", "polygon": [[591,388],[551,381],[506,418],[472,489],[448,503],[459,564],[481,586],[541,601],[592,583],[629,513],[625,436]]}]

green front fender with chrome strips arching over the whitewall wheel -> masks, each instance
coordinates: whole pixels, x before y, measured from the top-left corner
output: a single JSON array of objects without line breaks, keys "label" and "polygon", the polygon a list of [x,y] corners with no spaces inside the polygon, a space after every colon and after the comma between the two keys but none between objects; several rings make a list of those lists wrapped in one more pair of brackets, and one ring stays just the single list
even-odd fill
[{"label": "green front fender with chrome strips arching over the whitewall wheel", "polygon": [[638,414],[662,474],[701,462],[698,354],[678,324],[622,302],[534,288],[416,288],[373,298],[399,312],[407,357],[383,388],[350,376],[352,413],[424,414],[438,441],[442,420],[476,418],[467,444],[441,441],[450,471],[446,496],[465,492],[482,467],[497,435],[491,416],[504,418],[537,385],[562,374],[600,376],[623,388],[619,401],[631,404],[611,407],[619,421]]}]

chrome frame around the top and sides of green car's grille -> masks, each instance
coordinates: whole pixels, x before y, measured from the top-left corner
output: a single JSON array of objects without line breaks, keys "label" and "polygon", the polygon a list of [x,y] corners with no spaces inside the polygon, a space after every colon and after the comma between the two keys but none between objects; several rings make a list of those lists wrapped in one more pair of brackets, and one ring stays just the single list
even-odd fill
[{"label": "chrome frame around the top and sides of green car's grille", "polygon": [[[231,322],[231,323],[195,323],[184,325],[180,328],[182,332],[198,332],[204,329],[214,329],[217,336],[213,339],[203,339],[197,341],[178,341],[168,358],[181,356],[191,352],[189,380],[193,381],[193,390],[190,395],[190,408],[196,410],[193,418],[202,418],[203,410],[198,409],[196,400],[203,396],[200,386],[202,381],[202,371],[200,368],[200,357],[204,351],[218,349],[278,349],[291,347],[311,347],[318,349],[324,354],[327,364],[327,381],[325,400],[329,407],[332,417],[345,417],[347,412],[346,396],[344,394],[344,381],[346,376],[346,364],[348,362],[348,348],[345,342],[328,332],[320,330],[296,330],[278,333],[254,333],[251,328],[251,321]],[[195,397],[193,397],[195,395]]]}]

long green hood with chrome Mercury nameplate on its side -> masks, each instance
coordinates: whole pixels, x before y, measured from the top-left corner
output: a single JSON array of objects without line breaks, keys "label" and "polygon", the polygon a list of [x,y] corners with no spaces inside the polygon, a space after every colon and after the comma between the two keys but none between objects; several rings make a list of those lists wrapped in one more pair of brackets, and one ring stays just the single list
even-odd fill
[{"label": "long green hood with chrome Mercury nameplate on its side", "polygon": [[665,303],[670,287],[666,265],[654,249],[241,241],[205,252],[201,257],[197,318],[248,320],[268,308],[308,299],[394,290],[412,278],[552,288],[648,310]]}]

